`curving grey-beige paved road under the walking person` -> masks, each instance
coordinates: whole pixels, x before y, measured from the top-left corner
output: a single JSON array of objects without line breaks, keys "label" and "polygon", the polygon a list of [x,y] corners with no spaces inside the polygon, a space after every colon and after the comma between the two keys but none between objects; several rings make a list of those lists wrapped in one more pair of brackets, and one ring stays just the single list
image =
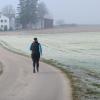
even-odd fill
[{"label": "curving grey-beige paved road under the walking person", "polygon": [[72,100],[69,80],[52,66],[41,62],[40,72],[33,74],[31,59],[1,47],[0,61],[0,100]]}]

